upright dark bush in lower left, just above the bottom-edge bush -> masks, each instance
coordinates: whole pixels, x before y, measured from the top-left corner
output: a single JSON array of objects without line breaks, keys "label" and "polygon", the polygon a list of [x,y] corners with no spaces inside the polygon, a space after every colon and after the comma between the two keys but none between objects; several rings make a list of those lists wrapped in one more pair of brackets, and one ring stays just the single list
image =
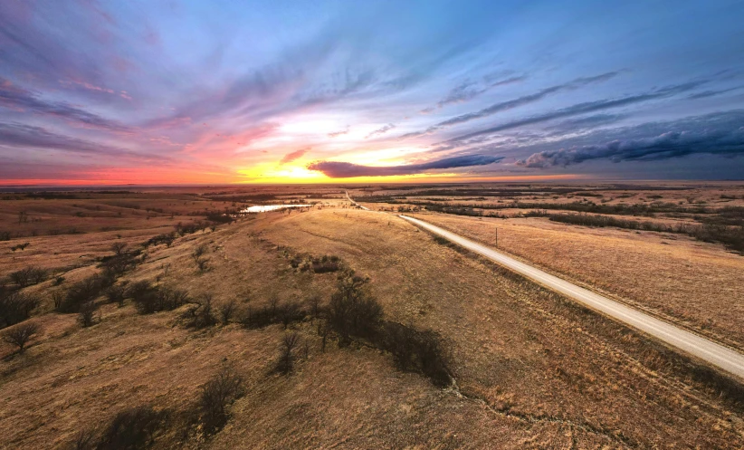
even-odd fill
[{"label": "upright dark bush in lower left, just above the bottom-edge bush", "polygon": [[196,409],[206,434],[213,434],[227,423],[228,407],[243,395],[243,378],[223,369],[205,383]]}]

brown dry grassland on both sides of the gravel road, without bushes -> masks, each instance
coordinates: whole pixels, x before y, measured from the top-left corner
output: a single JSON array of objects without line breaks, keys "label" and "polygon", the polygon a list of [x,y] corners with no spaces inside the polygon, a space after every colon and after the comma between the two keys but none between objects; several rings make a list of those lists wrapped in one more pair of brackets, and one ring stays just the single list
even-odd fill
[{"label": "brown dry grassland on both sides of the gravel road, without bushes", "polygon": [[[740,385],[727,383],[632,330],[491,263],[440,244],[393,215],[351,209],[338,188],[306,187],[302,192],[274,188],[274,192],[237,194],[231,189],[209,198],[204,194],[217,189],[196,193],[202,194],[198,196],[201,202],[214,205],[184,200],[197,203],[193,208],[186,205],[189,207],[180,214],[167,210],[169,203],[176,203],[173,192],[148,194],[167,197],[156,202],[164,213],[150,219],[141,216],[126,230],[101,231],[90,216],[73,215],[81,221],[75,226],[89,231],[75,235],[37,233],[2,243],[8,248],[3,249],[0,274],[7,276],[35,264],[53,269],[64,279],[54,285],[52,277],[20,290],[40,297],[41,304],[27,321],[37,323],[43,331],[23,353],[0,344],[0,398],[4,404],[0,409],[0,445],[69,448],[81,431],[92,430],[98,436],[119,412],[140,406],[167,413],[152,432],[149,444],[153,448],[744,445]],[[257,195],[272,196],[267,203],[310,196],[317,205],[306,212],[241,216],[231,224],[215,225],[214,230],[206,226],[174,236],[169,245],[140,247],[152,236],[173,232],[178,222],[205,220],[202,213],[210,207],[224,210],[266,201]],[[81,200],[6,200],[2,204],[7,217],[2,225],[17,225],[17,211],[6,208],[18,202],[29,202],[24,206],[29,215],[42,215],[30,205],[36,201],[61,202],[60,211],[66,211],[66,202]],[[147,210],[148,200],[141,201],[140,209],[134,211]],[[67,215],[53,208],[49,214]],[[687,303],[673,303],[680,308],[687,304],[692,309],[690,305],[695,304],[688,284],[711,284],[716,273],[734,276],[740,267],[741,257],[727,254],[718,244],[689,239],[661,244],[646,232],[573,232],[573,226],[544,218],[424,218],[451,228],[462,226],[463,234],[472,233],[483,240],[487,236],[478,233],[484,222],[493,220],[500,226],[500,247],[510,245],[507,250],[511,253],[535,258],[536,263],[556,272],[572,264],[550,266],[539,259],[549,261],[553,250],[541,249],[539,258],[529,254],[537,251],[540,241],[560,240],[569,234],[573,236],[571,245],[576,245],[576,258],[595,243],[589,261],[598,260],[597,254],[610,244],[618,252],[635,249],[631,257],[636,264],[653,252],[667,252],[659,253],[659,261],[677,254],[680,261],[697,267],[685,275],[690,281],[682,279],[682,287],[675,287],[673,280],[667,282],[669,292],[687,299]],[[158,220],[161,222],[153,222]],[[501,227],[507,224],[509,228],[502,232]],[[585,236],[587,242],[580,241],[578,235]],[[19,240],[31,244],[12,252],[10,247]],[[94,300],[98,308],[91,326],[81,324],[80,314],[54,311],[53,293],[69,292],[76,282],[101,273],[99,265],[110,261],[106,257],[111,257],[111,243],[117,241],[126,241],[130,251],[141,252],[137,263],[119,276],[116,286],[129,289],[148,281],[161,291],[184,290],[191,302],[173,311],[141,314],[132,297],[126,297],[119,307],[107,302],[106,295],[99,295]],[[568,246],[555,252],[569,258]],[[198,258],[206,261],[203,271],[197,268],[196,249],[203,253]],[[358,339],[339,348],[339,336],[331,331],[324,346],[319,331],[326,321],[310,313],[291,321],[286,330],[281,323],[258,328],[244,325],[243,317],[272,305],[298,302],[310,311],[312,299],[317,297],[321,309],[328,306],[337,290],[337,277],[344,271],[336,267],[328,272],[307,269],[309,262],[323,261],[323,255],[335,256],[338,260],[333,261],[339,261],[340,267],[369,277],[369,292],[382,306],[386,321],[438,333],[453,378],[449,386],[437,387],[416,371],[399,369],[390,353],[376,348],[374,341]],[[720,263],[726,258],[730,258],[730,269]],[[623,265],[623,270],[602,277],[598,263],[584,265],[594,272],[567,274],[610,292],[623,276],[635,279],[644,273],[640,269],[628,272]],[[628,267],[633,265],[627,263]],[[636,283],[653,286],[658,283],[654,280],[650,276]],[[14,289],[12,282],[7,286]],[[708,289],[711,292],[711,286]],[[634,298],[623,291],[615,294],[649,309],[658,308],[660,313],[675,314],[673,308],[666,311],[643,297]],[[190,308],[194,302],[203,306],[207,298],[217,318],[224,305],[234,304],[233,317],[225,323],[194,326]],[[740,301],[737,304],[740,307]],[[739,341],[735,322],[737,314],[741,317],[740,310],[726,310],[732,316],[727,321],[722,301],[706,307],[698,304],[698,308],[709,315],[690,313],[684,320],[696,324],[699,318],[710,317],[715,326],[711,324],[707,332]],[[277,373],[282,340],[295,332],[300,344],[292,353],[293,369],[287,375]],[[204,415],[194,419],[194,411],[198,411],[209,380],[224,368],[241,378],[242,392],[226,406],[224,426],[209,433],[203,425]]]}]

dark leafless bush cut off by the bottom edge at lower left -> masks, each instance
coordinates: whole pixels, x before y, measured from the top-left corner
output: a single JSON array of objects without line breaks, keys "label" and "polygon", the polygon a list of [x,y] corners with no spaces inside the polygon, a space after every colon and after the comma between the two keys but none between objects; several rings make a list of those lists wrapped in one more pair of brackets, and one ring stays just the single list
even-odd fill
[{"label": "dark leafless bush cut off by the bottom edge at lower left", "polygon": [[95,447],[111,450],[147,448],[167,419],[166,411],[133,407],[119,412],[103,430]]}]

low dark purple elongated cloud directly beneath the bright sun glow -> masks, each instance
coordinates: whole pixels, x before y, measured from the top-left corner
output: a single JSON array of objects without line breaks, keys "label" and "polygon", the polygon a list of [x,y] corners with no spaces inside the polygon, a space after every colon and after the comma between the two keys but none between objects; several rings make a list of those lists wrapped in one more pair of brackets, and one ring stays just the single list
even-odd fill
[{"label": "low dark purple elongated cloud directly beneath the bright sun glow", "polygon": [[466,155],[462,157],[437,159],[423,164],[406,164],[403,166],[361,166],[348,162],[317,161],[310,163],[308,169],[322,172],[331,178],[350,177],[389,177],[393,175],[413,175],[428,172],[430,170],[444,168],[467,168],[472,166],[485,166],[501,161],[503,157],[492,157],[487,155]]}]

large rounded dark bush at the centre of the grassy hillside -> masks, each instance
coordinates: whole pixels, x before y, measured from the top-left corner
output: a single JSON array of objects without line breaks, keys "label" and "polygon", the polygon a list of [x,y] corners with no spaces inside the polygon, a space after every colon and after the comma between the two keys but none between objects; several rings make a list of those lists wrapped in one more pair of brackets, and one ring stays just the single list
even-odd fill
[{"label": "large rounded dark bush at the centre of the grassy hillside", "polygon": [[339,346],[351,337],[375,340],[382,306],[367,291],[367,279],[353,272],[339,277],[339,288],[330,297],[329,326],[339,334]]}]

